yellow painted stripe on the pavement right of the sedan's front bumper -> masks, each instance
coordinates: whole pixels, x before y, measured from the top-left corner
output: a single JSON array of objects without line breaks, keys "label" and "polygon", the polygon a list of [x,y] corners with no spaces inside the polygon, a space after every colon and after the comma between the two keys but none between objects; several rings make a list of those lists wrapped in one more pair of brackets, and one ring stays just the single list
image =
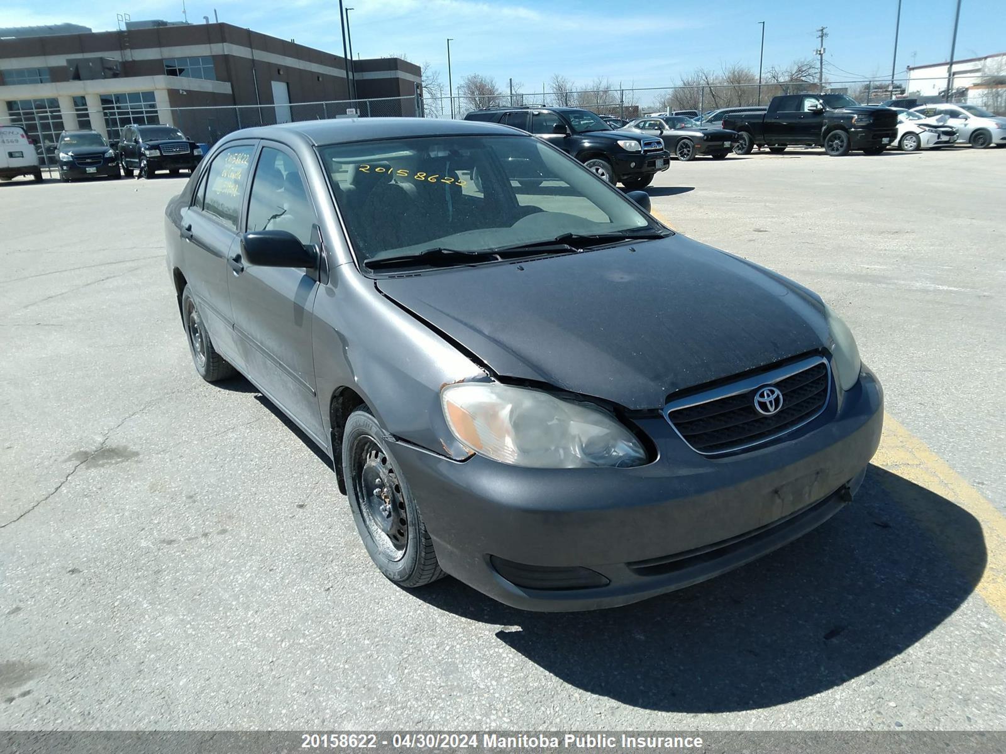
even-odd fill
[{"label": "yellow painted stripe on the pavement right of the sedan's front bumper", "polygon": [[[975,590],[1006,620],[1006,517],[890,414],[884,414],[883,436],[873,463],[950,501],[978,521],[985,538],[986,562]],[[967,573],[968,564],[981,553],[963,549],[957,533],[948,529],[929,507],[906,508],[906,513],[934,536],[951,562]]]}]

